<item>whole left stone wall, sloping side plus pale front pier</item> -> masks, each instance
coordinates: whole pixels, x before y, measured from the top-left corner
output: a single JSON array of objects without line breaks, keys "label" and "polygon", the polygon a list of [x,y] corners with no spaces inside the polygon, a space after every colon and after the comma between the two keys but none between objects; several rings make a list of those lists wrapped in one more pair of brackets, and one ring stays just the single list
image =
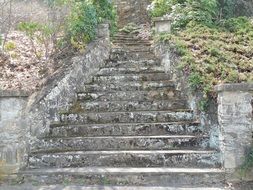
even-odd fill
[{"label": "whole left stone wall, sloping side plus pale front pier", "polygon": [[21,91],[0,91],[1,171],[15,173],[26,166],[30,142],[44,136],[50,123],[59,120],[59,112],[71,106],[76,92],[105,64],[110,51],[108,24],[99,26],[97,36],[84,55],[58,70],[41,91],[31,96]]}]

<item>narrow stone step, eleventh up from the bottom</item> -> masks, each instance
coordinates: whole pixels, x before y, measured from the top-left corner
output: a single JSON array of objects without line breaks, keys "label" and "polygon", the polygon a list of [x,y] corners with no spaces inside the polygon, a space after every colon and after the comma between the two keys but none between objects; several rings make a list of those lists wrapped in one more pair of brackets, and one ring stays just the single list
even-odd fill
[{"label": "narrow stone step, eleventh up from the bottom", "polygon": [[140,60],[140,61],[108,61],[105,67],[150,67],[160,66],[161,62],[157,60]]}]

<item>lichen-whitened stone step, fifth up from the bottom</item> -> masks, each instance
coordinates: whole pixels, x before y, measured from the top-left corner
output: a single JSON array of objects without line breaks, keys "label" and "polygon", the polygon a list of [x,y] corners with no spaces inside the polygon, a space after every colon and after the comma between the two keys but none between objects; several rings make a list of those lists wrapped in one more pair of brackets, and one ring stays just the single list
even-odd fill
[{"label": "lichen-whitened stone step, fifth up from the bottom", "polygon": [[194,120],[193,113],[190,110],[63,113],[60,117],[61,122],[68,124],[145,123]]}]

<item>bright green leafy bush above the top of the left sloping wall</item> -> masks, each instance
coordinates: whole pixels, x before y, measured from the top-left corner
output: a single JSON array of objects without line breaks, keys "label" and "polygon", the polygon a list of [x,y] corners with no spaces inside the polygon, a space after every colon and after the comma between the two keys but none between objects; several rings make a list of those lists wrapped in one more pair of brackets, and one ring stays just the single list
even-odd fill
[{"label": "bright green leafy bush above the top of the left sloping wall", "polygon": [[111,33],[116,27],[116,9],[109,0],[58,0],[70,7],[65,27],[66,37],[59,44],[70,44],[75,50],[84,51],[85,46],[96,37],[99,23],[110,23]]}]

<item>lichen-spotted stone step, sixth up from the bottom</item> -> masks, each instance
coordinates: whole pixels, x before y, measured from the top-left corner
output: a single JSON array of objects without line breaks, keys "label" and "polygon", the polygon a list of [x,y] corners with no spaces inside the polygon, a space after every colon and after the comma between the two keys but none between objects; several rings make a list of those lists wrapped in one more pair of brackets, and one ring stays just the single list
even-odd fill
[{"label": "lichen-spotted stone step, sixth up from the bottom", "polygon": [[[76,107],[75,107],[76,106]],[[187,102],[171,101],[86,101],[77,102],[72,112],[122,112],[122,111],[155,111],[187,109]],[[75,111],[75,108],[78,108]]]}]

